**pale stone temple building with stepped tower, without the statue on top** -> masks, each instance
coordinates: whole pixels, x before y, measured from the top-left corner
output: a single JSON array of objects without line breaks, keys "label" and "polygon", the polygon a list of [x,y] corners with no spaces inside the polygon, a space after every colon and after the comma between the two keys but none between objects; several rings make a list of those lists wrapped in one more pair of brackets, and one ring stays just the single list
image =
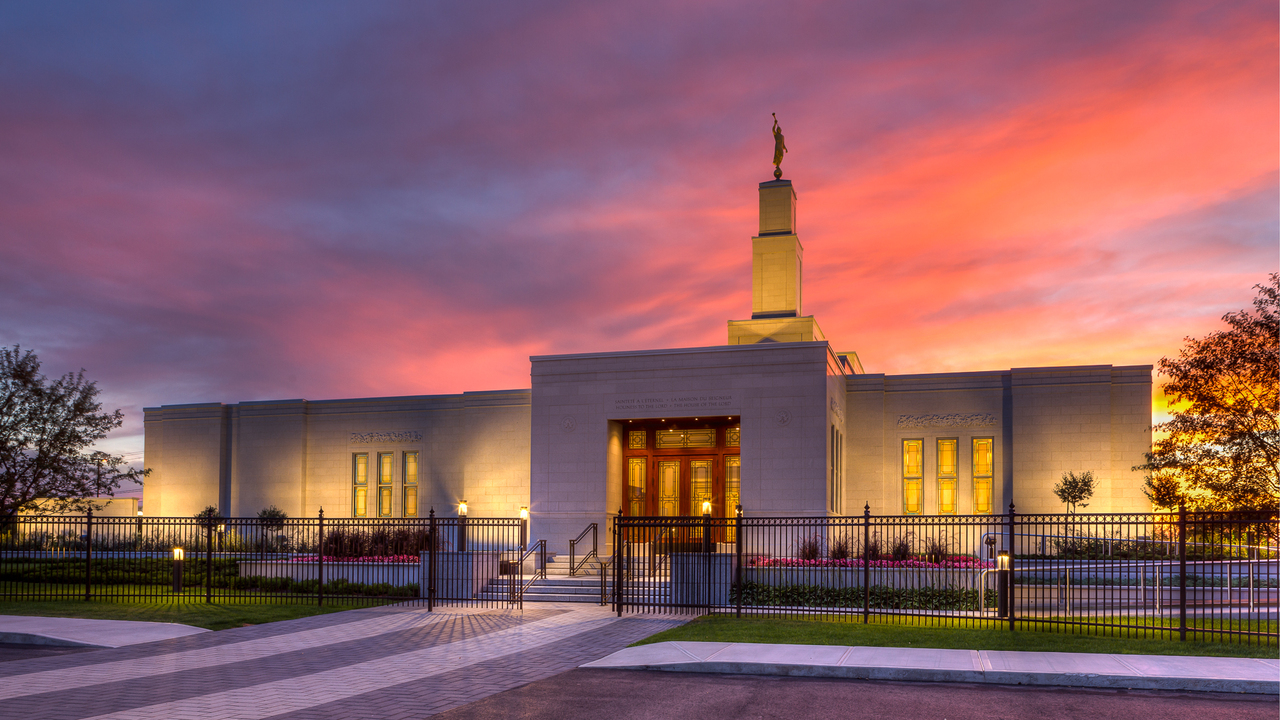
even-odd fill
[{"label": "pale stone temple building with stepped tower, without the statue on top", "polygon": [[517,515],[567,547],[627,515],[1149,510],[1151,365],[867,373],[803,311],[787,179],[759,186],[751,314],[727,342],[530,357],[529,389],[146,409],[147,515]]}]

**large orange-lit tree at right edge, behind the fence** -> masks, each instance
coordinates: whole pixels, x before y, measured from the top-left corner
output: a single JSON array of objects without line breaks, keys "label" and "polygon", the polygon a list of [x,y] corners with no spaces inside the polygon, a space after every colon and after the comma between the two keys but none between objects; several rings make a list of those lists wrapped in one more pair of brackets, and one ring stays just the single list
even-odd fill
[{"label": "large orange-lit tree at right edge, behind the fence", "polygon": [[1263,510],[1280,502],[1280,274],[1254,286],[1253,311],[1222,315],[1228,329],[1185,338],[1162,357],[1172,409],[1147,454],[1144,492],[1157,507]]}]

